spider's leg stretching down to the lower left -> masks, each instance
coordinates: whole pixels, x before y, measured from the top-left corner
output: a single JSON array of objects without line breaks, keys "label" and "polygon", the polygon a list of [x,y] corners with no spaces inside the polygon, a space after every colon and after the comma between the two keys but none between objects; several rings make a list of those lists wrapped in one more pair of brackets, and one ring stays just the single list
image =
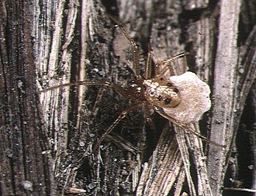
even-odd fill
[{"label": "spider's leg stretching down to the lower left", "polygon": [[106,131],[104,131],[104,134],[102,134],[102,136],[99,138],[99,140],[96,142],[95,147],[93,148],[93,152],[96,152],[97,150],[99,150],[99,145],[101,145],[102,141],[104,140],[104,138],[107,136],[107,134],[110,134],[110,132],[113,130],[113,128],[115,128],[115,126],[124,118],[127,116],[127,114],[129,113],[129,111],[131,111],[132,109],[135,109],[135,107],[137,107],[139,104],[141,103],[136,103],[136,104],[132,104],[129,107],[127,107],[127,109],[124,109],[123,112],[121,112],[121,114],[115,119],[114,123],[112,123],[112,125],[107,128]]}]

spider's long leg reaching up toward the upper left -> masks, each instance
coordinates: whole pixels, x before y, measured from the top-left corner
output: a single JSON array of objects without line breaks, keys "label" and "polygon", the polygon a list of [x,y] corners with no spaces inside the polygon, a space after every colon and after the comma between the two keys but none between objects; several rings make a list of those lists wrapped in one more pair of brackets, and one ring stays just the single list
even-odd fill
[{"label": "spider's long leg reaching up toward the upper left", "polygon": [[108,15],[111,20],[113,20],[115,23],[118,24],[119,29],[121,30],[121,32],[123,33],[123,35],[127,38],[127,40],[129,41],[130,45],[132,46],[132,65],[133,68],[135,68],[135,77],[136,79],[141,79],[141,68],[139,66],[139,52],[138,52],[138,46],[137,43],[135,42],[135,40],[132,39],[132,37],[129,36],[127,30],[124,28],[123,24],[118,21],[117,18],[114,18],[111,15]]}]

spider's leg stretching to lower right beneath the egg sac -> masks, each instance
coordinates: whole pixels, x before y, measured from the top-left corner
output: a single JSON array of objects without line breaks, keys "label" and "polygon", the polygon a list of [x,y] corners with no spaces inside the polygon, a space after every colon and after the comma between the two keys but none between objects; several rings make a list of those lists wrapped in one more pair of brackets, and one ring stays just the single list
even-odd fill
[{"label": "spider's leg stretching to lower right beneath the egg sac", "polygon": [[191,127],[187,126],[186,124],[181,123],[178,120],[174,119],[174,117],[166,115],[166,113],[163,112],[163,110],[160,109],[159,107],[155,107],[154,109],[156,110],[156,112],[159,115],[161,115],[161,116],[165,117],[166,119],[168,119],[169,121],[171,121],[171,123],[174,123],[175,125],[179,126],[180,128],[183,128],[183,129],[186,129],[188,131],[191,131],[192,134],[196,135],[197,137],[199,137],[200,139],[204,140],[205,142],[211,143],[211,144],[219,146],[221,148],[225,148],[226,147],[226,145],[220,145],[217,142],[213,142],[210,139],[207,139],[207,137],[202,136],[197,131],[193,130],[193,128],[191,128]]}]

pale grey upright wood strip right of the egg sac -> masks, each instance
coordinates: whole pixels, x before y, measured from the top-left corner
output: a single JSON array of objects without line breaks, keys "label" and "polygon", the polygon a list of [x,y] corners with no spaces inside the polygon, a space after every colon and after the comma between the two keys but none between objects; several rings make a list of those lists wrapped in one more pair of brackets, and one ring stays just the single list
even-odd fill
[{"label": "pale grey upright wood strip right of the egg sac", "polygon": [[[227,145],[226,149],[211,146],[208,170],[213,195],[221,195],[221,186],[227,165],[227,153],[232,148],[232,104],[235,89],[236,66],[238,61],[238,18],[241,1],[221,1],[219,33],[213,84],[213,117],[211,128],[213,141]],[[227,22],[228,21],[228,22]]]}]

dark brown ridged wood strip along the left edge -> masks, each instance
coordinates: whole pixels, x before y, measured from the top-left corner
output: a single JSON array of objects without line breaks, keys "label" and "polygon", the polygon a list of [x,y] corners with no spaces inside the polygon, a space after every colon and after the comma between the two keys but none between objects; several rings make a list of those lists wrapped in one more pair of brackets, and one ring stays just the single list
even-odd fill
[{"label": "dark brown ridged wood strip along the left edge", "polygon": [[35,85],[34,4],[0,5],[0,195],[54,195],[49,137]]}]

